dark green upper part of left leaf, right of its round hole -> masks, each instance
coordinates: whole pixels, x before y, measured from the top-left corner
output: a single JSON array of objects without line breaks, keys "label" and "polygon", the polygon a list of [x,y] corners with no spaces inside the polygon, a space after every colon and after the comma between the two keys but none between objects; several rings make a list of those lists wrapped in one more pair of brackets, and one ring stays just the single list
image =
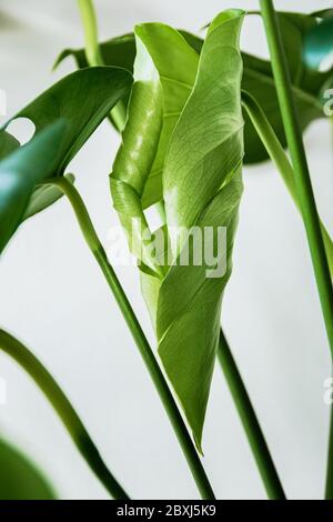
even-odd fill
[{"label": "dark green upper part of left leaf, right of its round hole", "polygon": [[[75,71],[16,114],[28,118],[37,132],[59,118],[68,122],[52,175],[61,175],[88,138],[132,86],[132,76],[120,68],[94,67]],[[9,123],[9,122],[8,122]]]}]

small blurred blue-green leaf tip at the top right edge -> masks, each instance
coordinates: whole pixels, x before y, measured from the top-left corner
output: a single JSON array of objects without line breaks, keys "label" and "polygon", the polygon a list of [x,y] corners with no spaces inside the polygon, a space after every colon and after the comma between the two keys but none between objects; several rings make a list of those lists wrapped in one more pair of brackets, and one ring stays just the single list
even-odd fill
[{"label": "small blurred blue-green leaf tip at the top right edge", "polygon": [[333,52],[333,10],[332,18],[325,18],[305,34],[304,58],[309,67],[317,69],[321,62]]}]

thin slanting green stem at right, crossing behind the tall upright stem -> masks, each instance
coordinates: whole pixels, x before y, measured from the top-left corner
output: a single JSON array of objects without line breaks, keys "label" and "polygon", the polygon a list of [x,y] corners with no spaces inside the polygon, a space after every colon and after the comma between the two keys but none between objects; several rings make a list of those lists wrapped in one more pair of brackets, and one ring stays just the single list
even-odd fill
[{"label": "thin slanting green stem at right, crossing behind the tall upright stem", "polygon": [[[294,201],[294,204],[301,212],[294,179],[294,170],[264,111],[259,106],[256,100],[246,91],[242,91],[242,104],[245,108],[263,145],[270,154],[271,160],[275,163],[279,172],[281,173],[282,179],[289,190],[289,193]],[[324,245],[329,260],[331,279],[333,279],[333,242],[327,230],[325,229],[325,225],[322,222],[321,231],[323,234]]]}]

